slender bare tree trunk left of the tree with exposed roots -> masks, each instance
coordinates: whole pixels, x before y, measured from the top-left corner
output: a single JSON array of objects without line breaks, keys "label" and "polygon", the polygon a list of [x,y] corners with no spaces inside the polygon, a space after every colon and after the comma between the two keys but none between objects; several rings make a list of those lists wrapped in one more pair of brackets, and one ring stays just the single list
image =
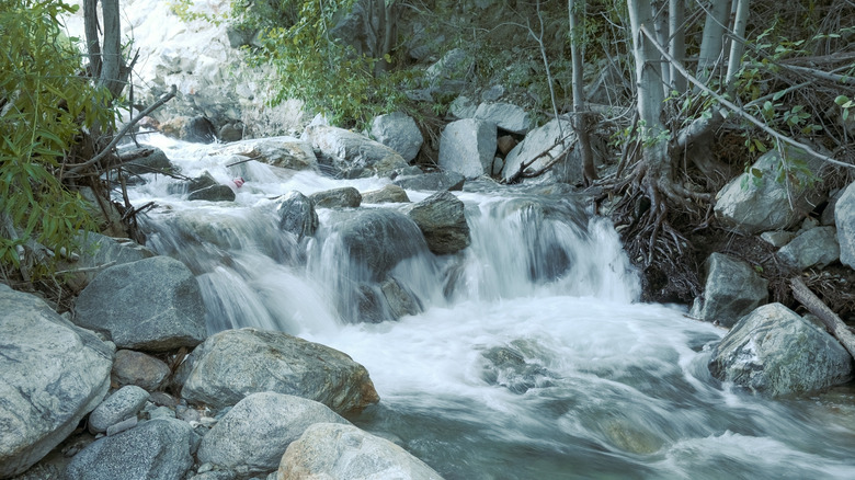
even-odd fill
[{"label": "slender bare tree trunk left of the tree with exposed roots", "polygon": [[[584,3],[581,5],[584,5]],[[591,150],[591,135],[589,134],[590,115],[585,106],[582,53],[579,52],[579,45],[581,44],[581,38],[579,38],[579,12],[577,12],[579,7],[580,4],[575,0],[567,1],[567,9],[570,15],[570,58],[573,64],[573,129],[575,130],[582,156],[582,175],[585,184],[590,185],[597,176],[596,167],[594,165],[594,153]]]}]

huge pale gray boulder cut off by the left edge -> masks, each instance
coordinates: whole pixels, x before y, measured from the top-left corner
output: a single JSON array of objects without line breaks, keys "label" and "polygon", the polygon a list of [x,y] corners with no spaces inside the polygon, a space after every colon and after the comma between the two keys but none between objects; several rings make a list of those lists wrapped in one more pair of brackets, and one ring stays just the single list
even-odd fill
[{"label": "huge pale gray boulder cut off by the left edge", "polygon": [[0,284],[0,478],[42,459],[110,389],[113,350]]}]

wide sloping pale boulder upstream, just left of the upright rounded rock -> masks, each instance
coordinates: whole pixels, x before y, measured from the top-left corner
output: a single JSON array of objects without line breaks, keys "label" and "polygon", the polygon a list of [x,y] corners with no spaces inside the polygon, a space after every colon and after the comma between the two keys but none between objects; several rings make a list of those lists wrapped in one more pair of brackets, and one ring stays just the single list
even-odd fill
[{"label": "wide sloping pale boulder upstream, just left of the upright rounded rock", "polygon": [[311,125],[301,138],[318,148],[347,178],[386,175],[408,165],[391,148],[344,128]]}]

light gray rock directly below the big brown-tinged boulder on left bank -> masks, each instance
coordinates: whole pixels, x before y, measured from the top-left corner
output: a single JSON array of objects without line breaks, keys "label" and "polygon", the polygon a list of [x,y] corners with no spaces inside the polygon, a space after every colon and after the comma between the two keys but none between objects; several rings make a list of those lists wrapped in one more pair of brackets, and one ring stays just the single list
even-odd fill
[{"label": "light gray rock directly below the big brown-tinged boulder on left bank", "polygon": [[260,392],[239,401],[202,438],[197,458],[228,469],[275,470],[288,445],[315,423],[349,423],[316,401]]}]

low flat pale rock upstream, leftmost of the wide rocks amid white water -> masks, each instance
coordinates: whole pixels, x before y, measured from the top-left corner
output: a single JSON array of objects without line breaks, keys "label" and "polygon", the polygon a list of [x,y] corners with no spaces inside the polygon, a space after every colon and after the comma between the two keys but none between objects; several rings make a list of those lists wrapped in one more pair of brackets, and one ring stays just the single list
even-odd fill
[{"label": "low flat pale rock upstream, leftmost of the wide rocks amid white water", "polygon": [[293,137],[269,137],[229,144],[212,155],[240,156],[290,170],[316,170],[318,159],[311,145]]}]

